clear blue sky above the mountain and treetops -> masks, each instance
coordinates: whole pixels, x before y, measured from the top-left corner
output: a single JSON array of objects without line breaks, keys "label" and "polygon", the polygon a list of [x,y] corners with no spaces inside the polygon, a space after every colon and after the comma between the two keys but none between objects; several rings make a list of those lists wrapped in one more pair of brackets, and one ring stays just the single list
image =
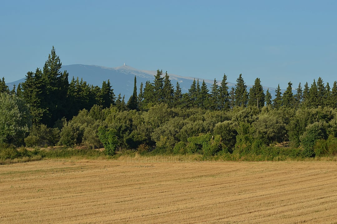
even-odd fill
[{"label": "clear blue sky above the mountain and treetops", "polygon": [[[337,1],[16,1],[0,7],[0,77],[63,65],[155,71],[286,89],[337,80]],[[69,74],[71,76],[71,74]],[[113,82],[113,81],[112,81]]]}]

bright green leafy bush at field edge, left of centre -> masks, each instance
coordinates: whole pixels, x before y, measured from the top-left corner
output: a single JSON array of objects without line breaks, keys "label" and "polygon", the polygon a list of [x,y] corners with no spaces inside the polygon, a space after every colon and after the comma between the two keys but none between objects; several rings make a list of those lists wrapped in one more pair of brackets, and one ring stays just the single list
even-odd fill
[{"label": "bright green leafy bush at field edge, left of centre", "polygon": [[117,132],[114,129],[108,129],[104,126],[98,128],[99,140],[104,145],[104,152],[106,155],[114,155],[118,144]]}]

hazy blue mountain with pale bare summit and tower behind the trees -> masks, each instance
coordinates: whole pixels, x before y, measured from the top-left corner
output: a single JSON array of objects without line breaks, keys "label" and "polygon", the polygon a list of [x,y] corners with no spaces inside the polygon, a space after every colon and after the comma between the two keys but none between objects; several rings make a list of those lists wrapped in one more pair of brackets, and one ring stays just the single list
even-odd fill
[{"label": "hazy blue mountain with pale bare summit and tower behind the trees", "polygon": [[[129,96],[133,93],[133,83],[134,76],[136,76],[137,80],[137,92],[139,92],[140,84],[143,83],[145,86],[146,81],[152,82],[154,80],[154,76],[157,74],[157,71],[145,71],[138,70],[132,68],[128,65],[122,65],[117,68],[108,68],[104,66],[98,65],[85,65],[85,64],[70,64],[63,65],[61,71],[66,70],[69,73],[69,82],[72,77],[76,79],[79,77],[86,81],[90,85],[94,86],[102,86],[103,81],[110,80],[112,88],[114,89],[114,93],[117,96],[119,93],[121,95],[125,95],[125,98],[128,99]],[[165,71],[163,71],[163,75],[165,75]],[[177,82],[179,82],[180,88],[182,92],[185,93],[191,87],[193,80],[199,79],[200,85],[202,84],[202,78],[194,78],[194,77],[183,77],[174,74],[168,74],[170,76],[170,80],[174,88],[176,87]],[[18,86],[20,82],[24,82],[24,79],[20,79],[11,83],[7,83],[9,89],[13,88],[15,84]],[[221,80],[217,80],[218,85],[220,85]],[[208,89],[211,89],[211,85],[214,83],[214,80],[205,79],[205,83],[207,84]],[[227,85],[229,90],[235,86],[234,83],[228,83]],[[251,85],[248,85],[247,91],[249,91]],[[229,91],[228,90],[228,91]],[[267,87],[264,87],[264,90],[267,90]],[[275,88],[269,88],[270,93],[275,91]]]}]

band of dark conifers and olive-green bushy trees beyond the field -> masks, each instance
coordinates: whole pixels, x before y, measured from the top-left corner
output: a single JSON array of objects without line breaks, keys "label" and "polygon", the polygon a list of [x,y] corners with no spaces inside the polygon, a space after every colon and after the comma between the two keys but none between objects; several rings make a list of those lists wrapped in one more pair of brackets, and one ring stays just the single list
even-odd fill
[{"label": "band of dark conifers and olive-green bushy trees beyond the field", "polygon": [[[335,155],[337,83],[319,77],[309,87],[292,83],[273,98],[259,78],[247,90],[242,74],[229,89],[227,76],[208,89],[193,80],[182,93],[167,72],[140,84],[127,102],[117,97],[110,80],[101,87],[79,78],[68,81],[53,47],[43,69],[28,72],[12,90],[0,80],[2,144],[17,146],[104,146],[140,152],[200,153],[240,156]],[[283,144],[282,144],[283,143]],[[290,146],[281,148],[280,145]]]}]

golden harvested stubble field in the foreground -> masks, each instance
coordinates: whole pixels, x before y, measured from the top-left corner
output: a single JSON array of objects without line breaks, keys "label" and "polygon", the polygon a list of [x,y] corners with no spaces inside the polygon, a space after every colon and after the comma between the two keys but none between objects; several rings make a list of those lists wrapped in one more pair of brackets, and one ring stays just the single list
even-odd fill
[{"label": "golden harvested stubble field in the foreground", "polygon": [[336,162],[0,166],[0,223],[337,223]]}]

